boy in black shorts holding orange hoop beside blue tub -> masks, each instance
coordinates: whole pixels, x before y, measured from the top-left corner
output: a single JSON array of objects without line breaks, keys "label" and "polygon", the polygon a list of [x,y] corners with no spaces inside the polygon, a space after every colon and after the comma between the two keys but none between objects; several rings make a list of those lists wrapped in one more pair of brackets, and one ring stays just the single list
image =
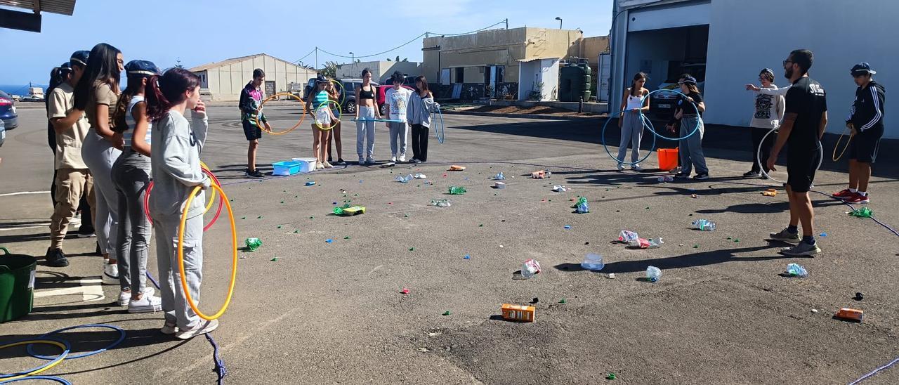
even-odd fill
[{"label": "boy in black shorts holding orange hoop beside blue tub", "polygon": [[[259,139],[263,137],[263,130],[256,125],[256,110],[263,103],[263,91],[260,88],[265,81],[265,72],[262,68],[253,70],[253,80],[246,84],[240,92],[240,121],[244,125],[244,135],[250,141],[250,148],[246,150],[246,176],[251,178],[263,178],[265,175],[256,169],[256,149],[259,148]],[[265,125],[265,130],[271,131],[271,126],[265,114],[259,112],[259,121]]]}]

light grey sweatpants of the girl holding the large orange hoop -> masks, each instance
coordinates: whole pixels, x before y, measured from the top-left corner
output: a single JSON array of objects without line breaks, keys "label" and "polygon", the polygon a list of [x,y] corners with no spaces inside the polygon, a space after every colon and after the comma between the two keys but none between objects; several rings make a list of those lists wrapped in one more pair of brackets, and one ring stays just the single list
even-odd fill
[{"label": "light grey sweatpants of the girl holding the large orange hoop", "polygon": [[[199,199],[200,197],[197,197]],[[187,330],[200,322],[184,297],[181,271],[178,267],[178,231],[180,216],[164,216],[150,212],[156,228],[156,264],[159,267],[159,286],[162,291],[165,323]],[[188,218],[184,226],[184,273],[187,288],[194,304],[200,303],[200,282],[203,280],[203,216]]]}]

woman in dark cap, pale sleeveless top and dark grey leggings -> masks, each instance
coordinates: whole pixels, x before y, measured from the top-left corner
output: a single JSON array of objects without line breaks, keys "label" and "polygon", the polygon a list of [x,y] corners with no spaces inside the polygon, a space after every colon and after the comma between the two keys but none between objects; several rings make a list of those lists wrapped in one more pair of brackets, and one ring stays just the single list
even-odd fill
[{"label": "woman in dark cap, pale sleeveless top and dark grey leggings", "polygon": [[129,313],[156,312],[162,309],[162,301],[153,296],[153,288],[147,287],[147,256],[149,254],[150,222],[145,214],[144,196],[150,184],[150,124],[147,120],[147,103],[144,94],[147,79],[159,75],[159,68],[146,60],[131,60],[125,65],[128,87],[119,97],[112,121],[112,129],[122,135],[124,148],[112,165],[112,182],[119,201],[119,243],[115,245],[120,255],[120,269],[129,271],[129,287],[123,290],[129,295]]}]

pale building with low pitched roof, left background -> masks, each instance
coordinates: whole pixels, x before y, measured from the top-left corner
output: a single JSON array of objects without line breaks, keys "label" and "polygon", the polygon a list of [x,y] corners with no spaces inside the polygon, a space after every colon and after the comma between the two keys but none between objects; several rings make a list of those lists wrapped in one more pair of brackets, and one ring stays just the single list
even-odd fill
[{"label": "pale building with low pitched roof, left background", "polygon": [[[264,53],[204,64],[190,71],[200,76],[200,93],[204,99],[237,101],[240,100],[240,91],[253,79],[256,68],[265,71],[266,95],[289,92],[291,88],[302,90],[302,85],[317,75],[314,69],[299,67]],[[291,87],[293,84],[299,86]]]}]

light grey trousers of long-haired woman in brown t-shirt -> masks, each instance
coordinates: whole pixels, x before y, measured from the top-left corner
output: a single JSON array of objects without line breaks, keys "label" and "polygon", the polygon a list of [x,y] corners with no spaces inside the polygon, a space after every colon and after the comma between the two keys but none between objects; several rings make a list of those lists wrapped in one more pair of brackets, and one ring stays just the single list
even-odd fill
[{"label": "light grey trousers of long-haired woman in brown t-shirt", "polygon": [[[100,251],[119,262],[121,261],[115,249],[119,236],[119,194],[116,193],[115,184],[112,184],[112,164],[120,155],[121,151],[112,147],[109,140],[97,135],[93,127],[87,131],[81,147],[81,157],[93,175],[93,196],[97,206],[93,228]],[[120,272],[119,276],[121,274],[123,273]],[[128,274],[128,270],[124,274]]]}]

